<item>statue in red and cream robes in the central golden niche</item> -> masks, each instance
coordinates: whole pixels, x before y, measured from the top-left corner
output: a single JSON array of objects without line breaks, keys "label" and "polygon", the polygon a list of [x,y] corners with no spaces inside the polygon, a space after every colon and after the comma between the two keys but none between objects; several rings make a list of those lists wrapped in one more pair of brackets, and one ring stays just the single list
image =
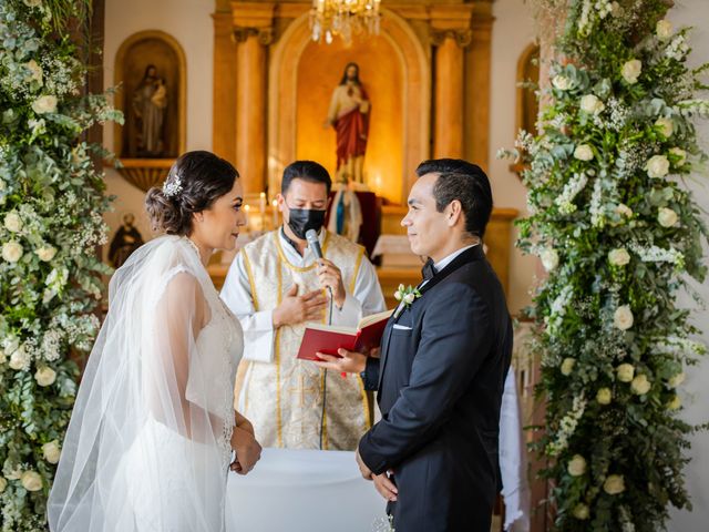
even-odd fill
[{"label": "statue in red and cream robes in the central golden niche", "polygon": [[332,92],[326,125],[337,133],[338,181],[363,183],[362,166],[369,135],[371,104],[359,81],[359,65],[348,63]]}]

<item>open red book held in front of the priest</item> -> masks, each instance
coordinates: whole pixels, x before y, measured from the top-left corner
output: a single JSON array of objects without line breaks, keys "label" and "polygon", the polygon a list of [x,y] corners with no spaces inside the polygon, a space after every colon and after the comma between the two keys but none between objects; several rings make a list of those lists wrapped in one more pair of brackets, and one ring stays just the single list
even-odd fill
[{"label": "open red book held in front of the priest", "polygon": [[339,357],[337,350],[341,347],[348,351],[369,352],[370,349],[379,347],[392,311],[393,309],[367,316],[360,320],[357,328],[308,324],[300,342],[298,358],[320,360],[316,352]]}]

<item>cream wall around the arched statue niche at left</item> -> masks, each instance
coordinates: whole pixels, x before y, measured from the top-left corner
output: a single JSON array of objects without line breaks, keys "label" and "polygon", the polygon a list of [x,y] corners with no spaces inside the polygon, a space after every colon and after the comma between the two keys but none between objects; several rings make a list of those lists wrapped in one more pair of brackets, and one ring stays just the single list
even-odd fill
[{"label": "cream wall around the arched statue niche at left", "polygon": [[[144,30],[162,30],[182,45],[187,63],[187,150],[212,149],[212,85],[214,0],[106,0],[104,41],[104,84],[113,86],[115,54],[129,37]],[[113,124],[104,127],[104,145],[113,150]],[[109,194],[117,196],[114,212],[107,213],[111,235],[124,213],[137,217],[144,238],[151,229],[143,208],[145,193],[127,183],[113,168],[106,171]]]}]

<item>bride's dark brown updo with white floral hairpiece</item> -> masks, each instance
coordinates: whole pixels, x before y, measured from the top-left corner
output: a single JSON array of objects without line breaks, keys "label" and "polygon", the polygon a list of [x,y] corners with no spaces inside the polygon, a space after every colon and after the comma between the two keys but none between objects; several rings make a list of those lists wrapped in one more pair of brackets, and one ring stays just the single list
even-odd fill
[{"label": "bride's dark brown updo with white floral hairpiece", "polygon": [[196,151],[179,156],[169,168],[162,188],[145,196],[145,208],[154,231],[189,235],[192,215],[201,213],[234,187],[239,173],[214,153]]}]

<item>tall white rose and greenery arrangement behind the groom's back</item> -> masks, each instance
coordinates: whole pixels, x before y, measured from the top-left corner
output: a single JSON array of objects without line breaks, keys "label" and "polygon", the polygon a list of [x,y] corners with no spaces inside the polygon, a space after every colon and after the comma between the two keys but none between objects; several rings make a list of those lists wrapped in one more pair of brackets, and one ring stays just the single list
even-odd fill
[{"label": "tall white rose and greenery arrangement behind the groom's back", "polygon": [[684,186],[709,116],[688,32],[664,0],[540,0],[563,13],[540,134],[517,150],[528,217],[517,245],[548,276],[530,309],[555,530],[655,531],[690,508],[691,427],[678,387],[706,352],[680,289],[702,282],[707,227]]}]

